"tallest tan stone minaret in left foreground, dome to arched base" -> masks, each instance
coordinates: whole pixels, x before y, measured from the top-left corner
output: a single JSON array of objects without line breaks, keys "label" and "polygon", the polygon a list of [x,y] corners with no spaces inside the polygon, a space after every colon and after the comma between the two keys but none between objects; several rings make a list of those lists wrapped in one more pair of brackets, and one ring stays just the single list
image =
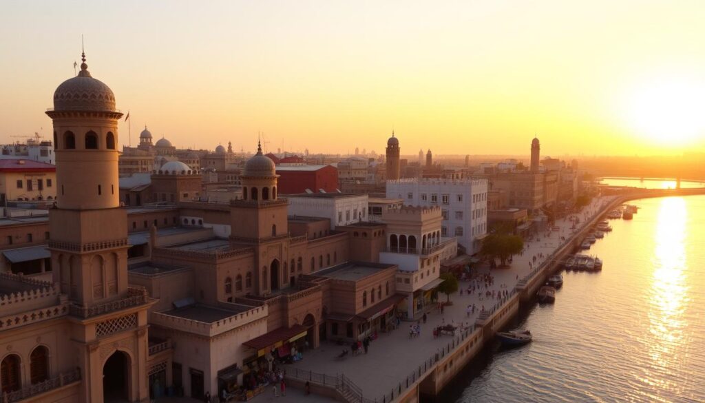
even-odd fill
[{"label": "tallest tan stone minaret in left foreground, dome to arched base", "polygon": [[49,210],[49,251],[54,282],[68,295],[71,317],[56,337],[71,340],[71,351],[64,353],[81,371],[76,402],[110,397],[114,390],[103,390],[110,368],[124,373],[108,387],[125,401],[146,402],[147,309],[154,302],[145,289],[128,287],[130,246],[118,198],[116,147],[123,114],[112,90],[92,78],[81,56],[78,76],[56,88],[54,108],[46,112],[54,124],[57,186],[56,205]]}]

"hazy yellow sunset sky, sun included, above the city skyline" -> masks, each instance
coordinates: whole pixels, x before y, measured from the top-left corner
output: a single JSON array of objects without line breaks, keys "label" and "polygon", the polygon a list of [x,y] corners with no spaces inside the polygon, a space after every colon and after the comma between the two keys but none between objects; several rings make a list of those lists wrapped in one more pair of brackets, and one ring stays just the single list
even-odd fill
[{"label": "hazy yellow sunset sky, sun included, above the city skyline", "polygon": [[[3,1],[0,141],[80,64],[177,147],[705,150],[705,1]],[[122,143],[128,126],[121,122]],[[156,140],[155,138],[155,140]]]}]

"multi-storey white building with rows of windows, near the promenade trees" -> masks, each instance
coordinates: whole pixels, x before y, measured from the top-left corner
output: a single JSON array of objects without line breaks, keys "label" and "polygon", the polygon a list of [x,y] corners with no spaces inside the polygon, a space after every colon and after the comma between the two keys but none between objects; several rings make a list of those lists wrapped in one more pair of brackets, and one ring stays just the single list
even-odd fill
[{"label": "multi-storey white building with rows of windows, near the promenade trees", "polygon": [[406,205],[441,207],[441,236],[455,236],[468,255],[479,251],[487,232],[486,179],[399,179],[387,181],[386,196]]}]

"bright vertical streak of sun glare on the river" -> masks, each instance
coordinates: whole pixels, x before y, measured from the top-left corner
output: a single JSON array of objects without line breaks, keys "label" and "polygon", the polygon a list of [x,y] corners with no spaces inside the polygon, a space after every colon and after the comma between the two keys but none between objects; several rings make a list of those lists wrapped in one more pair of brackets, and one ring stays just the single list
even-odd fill
[{"label": "bright vertical streak of sun glare on the river", "polygon": [[654,272],[649,293],[649,356],[642,382],[661,390],[677,385],[669,377],[682,359],[683,311],[687,299],[685,238],[687,208],[683,198],[664,198],[658,211]]}]

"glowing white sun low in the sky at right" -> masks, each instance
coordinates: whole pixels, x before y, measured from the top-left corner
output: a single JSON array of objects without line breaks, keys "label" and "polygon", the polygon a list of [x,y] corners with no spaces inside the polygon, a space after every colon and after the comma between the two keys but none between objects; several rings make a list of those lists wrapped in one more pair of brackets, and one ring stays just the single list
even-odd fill
[{"label": "glowing white sun low in the sky at right", "polygon": [[627,123],[639,138],[687,145],[705,138],[705,80],[667,78],[642,83],[627,101]]}]

